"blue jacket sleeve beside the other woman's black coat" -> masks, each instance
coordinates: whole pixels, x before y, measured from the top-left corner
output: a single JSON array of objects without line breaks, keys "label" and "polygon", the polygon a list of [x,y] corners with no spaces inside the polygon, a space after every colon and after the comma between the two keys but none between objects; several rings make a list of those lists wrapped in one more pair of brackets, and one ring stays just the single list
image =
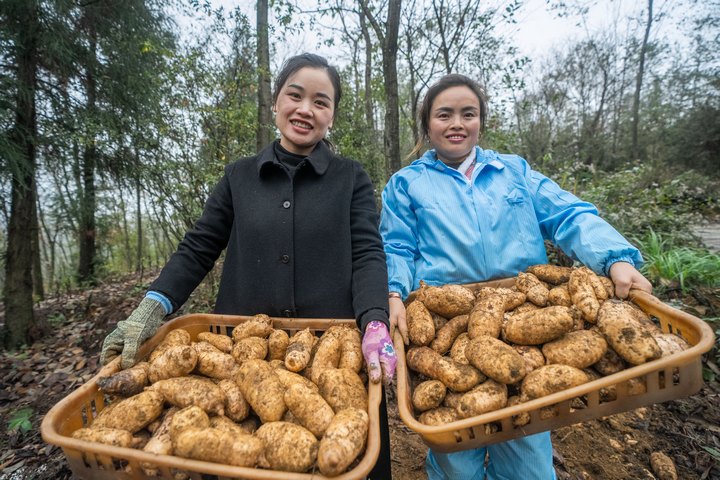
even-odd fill
[{"label": "blue jacket sleeve beside the other woman's black coat", "polygon": [[390,179],[382,194],[380,235],[383,238],[388,267],[388,290],[407,298],[415,278],[418,255],[417,217],[405,185]]}]

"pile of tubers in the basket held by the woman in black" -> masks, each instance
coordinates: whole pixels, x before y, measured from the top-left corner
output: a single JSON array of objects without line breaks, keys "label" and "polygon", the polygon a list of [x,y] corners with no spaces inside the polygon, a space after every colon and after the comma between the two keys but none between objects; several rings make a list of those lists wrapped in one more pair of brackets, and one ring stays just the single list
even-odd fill
[{"label": "pile of tubers in the basket held by the woman in black", "polygon": [[[146,362],[99,379],[112,396],[74,438],[225,465],[334,477],[365,449],[360,332],[292,336],[255,315],[232,337],[171,330]],[[129,468],[129,467],[128,467]],[[143,473],[157,476],[151,463]],[[178,480],[188,478],[176,471]]]}]

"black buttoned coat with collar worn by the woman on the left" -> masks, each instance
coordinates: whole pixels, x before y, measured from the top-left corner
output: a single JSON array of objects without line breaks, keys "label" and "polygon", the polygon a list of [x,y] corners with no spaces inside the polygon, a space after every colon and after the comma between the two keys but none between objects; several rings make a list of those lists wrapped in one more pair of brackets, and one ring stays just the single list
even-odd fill
[{"label": "black buttoned coat with collar worn by the woman on the left", "polygon": [[225,167],[150,289],[178,309],[227,247],[216,313],[360,320],[378,309],[367,317],[387,323],[377,225],[372,182],[358,162],[321,142],[292,176],[270,145]]}]

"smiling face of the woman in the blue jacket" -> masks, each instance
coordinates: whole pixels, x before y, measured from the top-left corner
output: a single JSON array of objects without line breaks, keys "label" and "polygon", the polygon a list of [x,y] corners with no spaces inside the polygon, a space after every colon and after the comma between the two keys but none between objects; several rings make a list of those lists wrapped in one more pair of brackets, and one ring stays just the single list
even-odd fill
[{"label": "smiling face of the woman in the blue jacket", "polygon": [[464,160],[480,136],[480,101],[468,87],[450,87],[439,93],[430,109],[428,138],[445,163]]}]

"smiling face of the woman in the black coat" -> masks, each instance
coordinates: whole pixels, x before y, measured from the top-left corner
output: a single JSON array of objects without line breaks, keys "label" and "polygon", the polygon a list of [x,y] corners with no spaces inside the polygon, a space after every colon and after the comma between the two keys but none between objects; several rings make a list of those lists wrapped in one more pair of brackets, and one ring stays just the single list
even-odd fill
[{"label": "smiling face of the woman in the black coat", "polygon": [[288,77],[275,101],[275,125],[280,145],[308,155],[333,124],[335,89],[327,72],[304,67]]}]

